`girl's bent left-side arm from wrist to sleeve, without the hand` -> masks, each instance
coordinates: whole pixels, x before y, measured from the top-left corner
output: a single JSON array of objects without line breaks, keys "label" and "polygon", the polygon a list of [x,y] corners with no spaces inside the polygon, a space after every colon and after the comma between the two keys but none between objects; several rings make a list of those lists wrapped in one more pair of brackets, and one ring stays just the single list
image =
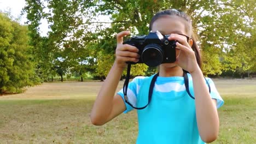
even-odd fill
[{"label": "girl's bent left-side arm from wrist to sleeve, without the hand", "polygon": [[123,68],[119,68],[114,63],[92,107],[90,115],[92,124],[102,125],[107,123],[126,109],[120,95],[115,95],[122,73]]}]

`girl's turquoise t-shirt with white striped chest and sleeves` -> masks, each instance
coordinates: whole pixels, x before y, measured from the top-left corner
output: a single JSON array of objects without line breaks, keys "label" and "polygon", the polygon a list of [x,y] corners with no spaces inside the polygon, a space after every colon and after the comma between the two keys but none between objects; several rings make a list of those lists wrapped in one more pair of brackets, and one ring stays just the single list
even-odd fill
[{"label": "girl's turquoise t-shirt with white striped chest and sleeves", "polygon": [[[136,107],[148,103],[150,77],[135,77],[129,83],[127,97]],[[192,77],[189,77],[190,93],[194,96]],[[217,108],[224,101],[213,81],[206,78],[211,86],[211,97],[217,100]],[[118,92],[124,99],[123,89]],[[125,101],[124,101],[125,103]],[[126,104],[127,113],[133,108]],[[137,110],[138,137],[140,143],[205,143],[201,140],[196,123],[195,100],[190,98],[184,85],[184,77],[158,77],[153,89],[152,100],[143,110]]]}]

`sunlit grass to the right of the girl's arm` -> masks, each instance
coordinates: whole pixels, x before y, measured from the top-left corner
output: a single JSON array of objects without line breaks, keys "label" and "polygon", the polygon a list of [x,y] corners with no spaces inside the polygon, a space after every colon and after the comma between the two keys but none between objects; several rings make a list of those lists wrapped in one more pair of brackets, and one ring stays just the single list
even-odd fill
[{"label": "sunlit grass to the right of the girl's arm", "polygon": [[213,143],[256,143],[256,80],[216,80],[225,104],[219,109],[219,137]]}]

